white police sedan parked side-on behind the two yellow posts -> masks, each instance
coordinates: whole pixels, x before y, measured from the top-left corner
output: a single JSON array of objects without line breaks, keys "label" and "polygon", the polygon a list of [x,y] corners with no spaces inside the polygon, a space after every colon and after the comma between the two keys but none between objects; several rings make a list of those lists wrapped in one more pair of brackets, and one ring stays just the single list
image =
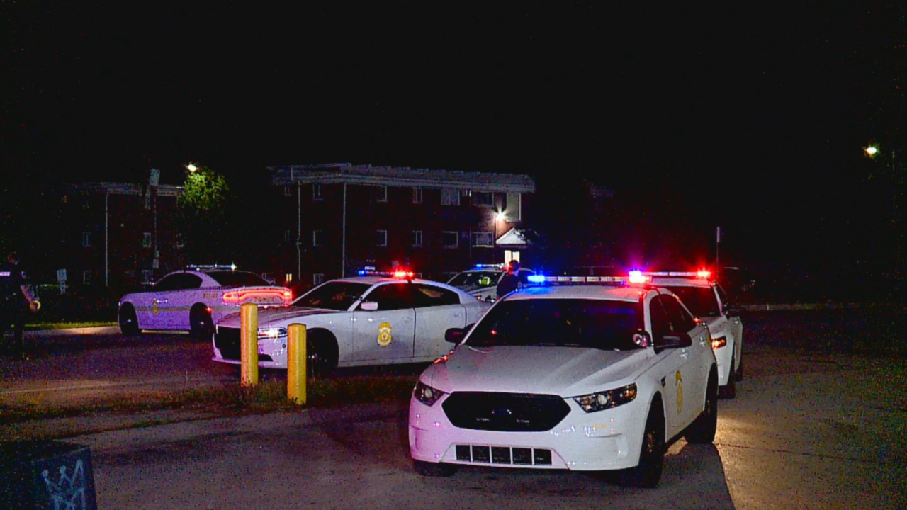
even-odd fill
[{"label": "white police sedan parked side-on behind the two yellow posts", "polygon": [[[444,331],[479,320],[491,307],[456,289],[412,273],[327,281],[284,309],[258,312],[258,366],[287,368],[290,324],[306,326],[308,368],[433,361],[451,345]],[[221,319],[214,334],[215,361],[240,363],[240,316]]]}]

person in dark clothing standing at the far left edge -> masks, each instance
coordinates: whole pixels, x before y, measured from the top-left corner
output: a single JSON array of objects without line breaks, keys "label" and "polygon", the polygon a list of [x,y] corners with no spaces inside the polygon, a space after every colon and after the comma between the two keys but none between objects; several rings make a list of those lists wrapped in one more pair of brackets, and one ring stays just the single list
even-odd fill
[{"label": "person in dark clothing standing at the far left edge", "polygon": [[4,350],[17,358],[24,358],[24,326],[28,311],[38,311],[41,303],[34,297],[28,284],[28,276],[19,266],[19,254],[11,251],[6,262],[0,264],[0,342],[10,325],[13,326],[13,342],[4,345]]}]

